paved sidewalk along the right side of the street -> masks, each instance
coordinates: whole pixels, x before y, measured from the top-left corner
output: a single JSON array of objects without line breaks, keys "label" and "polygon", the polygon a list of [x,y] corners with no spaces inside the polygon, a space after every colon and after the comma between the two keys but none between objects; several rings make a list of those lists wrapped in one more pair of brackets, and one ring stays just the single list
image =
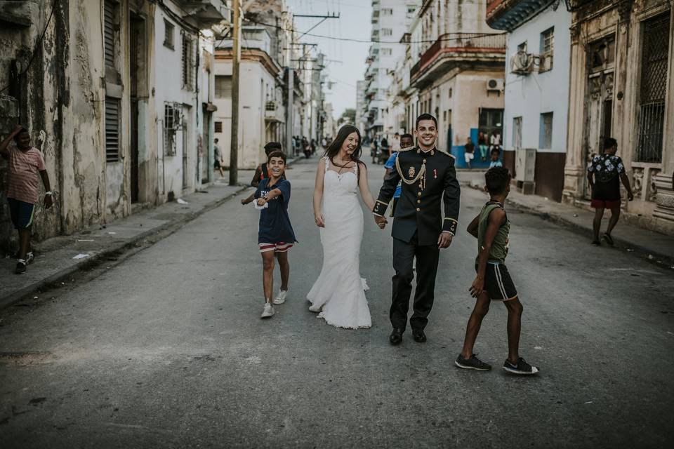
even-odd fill
[{"label": "paved sidewalk along the right side of the street", "polygon": [[[484,187],[484,170],[467,171],[458,173],[461,185],[480,189]],[[580,234],[588,240],[588,246],[592,240],[592,220],[594,213],[576,206],[550,201],[542,196],[523,195],[515,190],[510,190],[508,204],[524,212],[538,215],[545,220],[560,223]],[[611,213],[604,213],[602,229],[606,229]],[[634,253],[639,257],[650,260],[661,267],[674,269],[674,237],[652,232],[641,227],[632,225],[626,220],[620,220],[612,233],[616,248]],[[602,246],[607,243],[602,241]]]}]

